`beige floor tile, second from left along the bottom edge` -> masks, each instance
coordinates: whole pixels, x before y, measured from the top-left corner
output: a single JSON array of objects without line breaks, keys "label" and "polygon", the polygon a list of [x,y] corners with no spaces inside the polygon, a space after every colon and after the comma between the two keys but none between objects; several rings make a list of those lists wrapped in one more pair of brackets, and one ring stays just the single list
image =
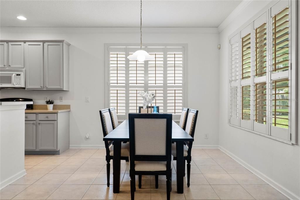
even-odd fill
[{"label": "beige floor tile, second from left along the bottom edge", "polygon": [[16,195],[13,200],[17,199],[46,199],[59,185],[31,185],[21,193]]}]

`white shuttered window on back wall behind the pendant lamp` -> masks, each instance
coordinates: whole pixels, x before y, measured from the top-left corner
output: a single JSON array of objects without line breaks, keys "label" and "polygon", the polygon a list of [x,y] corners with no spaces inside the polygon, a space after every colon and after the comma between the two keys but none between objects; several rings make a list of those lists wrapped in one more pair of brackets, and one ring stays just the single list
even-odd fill
[{"label": "white shuttered window on back wall behind the pendant lamp", "polygon": [[107,106],[115,107],[118,119],[125,120],[128,113],[138,113],[143,104],[139,91],[154,92],[152,106],[159,106],[160,113],[172,113],[173,119],[179,120],[184,106],[184,47],[145,47],[154,60],[127,59],[138,49],[108,47]]}]

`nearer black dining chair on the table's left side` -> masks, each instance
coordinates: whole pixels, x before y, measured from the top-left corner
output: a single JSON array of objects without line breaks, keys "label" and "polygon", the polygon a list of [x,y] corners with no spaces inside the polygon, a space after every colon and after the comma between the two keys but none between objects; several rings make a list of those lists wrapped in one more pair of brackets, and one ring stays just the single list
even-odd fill
[{"label": "nearer black dining chair on the table's left side", "polygon": [[[100,112],[100,119],[102,124],[103,137],[113,131],[112,116],[109,108],[103,109]],[[104,141],[106,150],[106,174],[107,174],[107,187],[110,186],[110,160],[113,159],[113,141]],[[129,144],[122,143],[121,146],[121,160],[129,162]]]}]

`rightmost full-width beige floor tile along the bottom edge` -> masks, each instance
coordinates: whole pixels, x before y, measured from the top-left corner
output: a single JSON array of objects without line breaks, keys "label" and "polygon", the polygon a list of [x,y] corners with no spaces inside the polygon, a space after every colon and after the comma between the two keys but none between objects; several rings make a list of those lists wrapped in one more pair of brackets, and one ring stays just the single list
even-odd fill
[{"label": "rightmost full-width beige floor tile along the bottom edge", "polygon": [[242,185],[255,199],[286,199],[284,195],[269,185]]}]

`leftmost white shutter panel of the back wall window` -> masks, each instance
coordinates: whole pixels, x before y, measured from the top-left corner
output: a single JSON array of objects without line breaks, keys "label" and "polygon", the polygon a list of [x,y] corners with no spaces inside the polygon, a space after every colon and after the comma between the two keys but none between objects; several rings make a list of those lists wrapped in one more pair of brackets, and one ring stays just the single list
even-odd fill
[{"label": "leftmost white shutter panel of the back wall window", "polygon": [[125,48],[110,48],[110,107],[125,115]]}]

